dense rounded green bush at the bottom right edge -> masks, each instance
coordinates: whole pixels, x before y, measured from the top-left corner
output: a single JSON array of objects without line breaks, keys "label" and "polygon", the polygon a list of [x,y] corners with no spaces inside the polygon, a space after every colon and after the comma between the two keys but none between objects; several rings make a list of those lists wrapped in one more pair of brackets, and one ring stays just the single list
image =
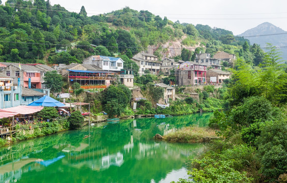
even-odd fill
[{"label": "dense rounded green bush at the bottom right edge", "polygon": [[267,121],[257,139],[263,175],[275,181],[287,173],[287,120]]}]

